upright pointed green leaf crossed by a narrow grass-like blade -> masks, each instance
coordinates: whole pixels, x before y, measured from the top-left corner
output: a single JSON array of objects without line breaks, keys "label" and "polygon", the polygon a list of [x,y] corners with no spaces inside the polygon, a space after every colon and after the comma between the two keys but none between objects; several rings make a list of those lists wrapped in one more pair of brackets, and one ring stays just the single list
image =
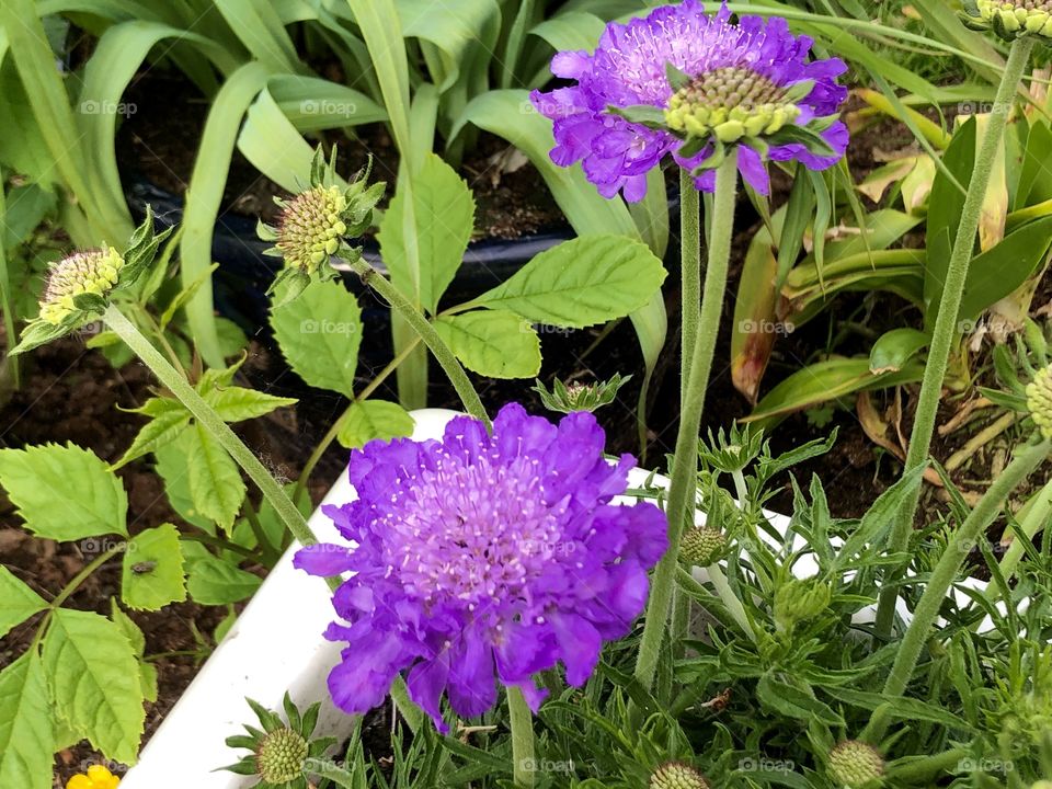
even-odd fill
[{"label": "upright pointed green leaf crossed by a narrow grass-like blade", "polygon": [[[407,199],[412,201],[408,213]],[[409,220],[412,228],[405,227]],[[460,267],[473,227],[471,190],[451,167],[427,153],[413,175],[412,192],[399,190],[380,222],[380,253],[396,286],[415,294],[422,307],[435,312]],[[407,248],[410,243],[415,243],[414,250]],[[411,251],[419,260],[419,282]]]}]

